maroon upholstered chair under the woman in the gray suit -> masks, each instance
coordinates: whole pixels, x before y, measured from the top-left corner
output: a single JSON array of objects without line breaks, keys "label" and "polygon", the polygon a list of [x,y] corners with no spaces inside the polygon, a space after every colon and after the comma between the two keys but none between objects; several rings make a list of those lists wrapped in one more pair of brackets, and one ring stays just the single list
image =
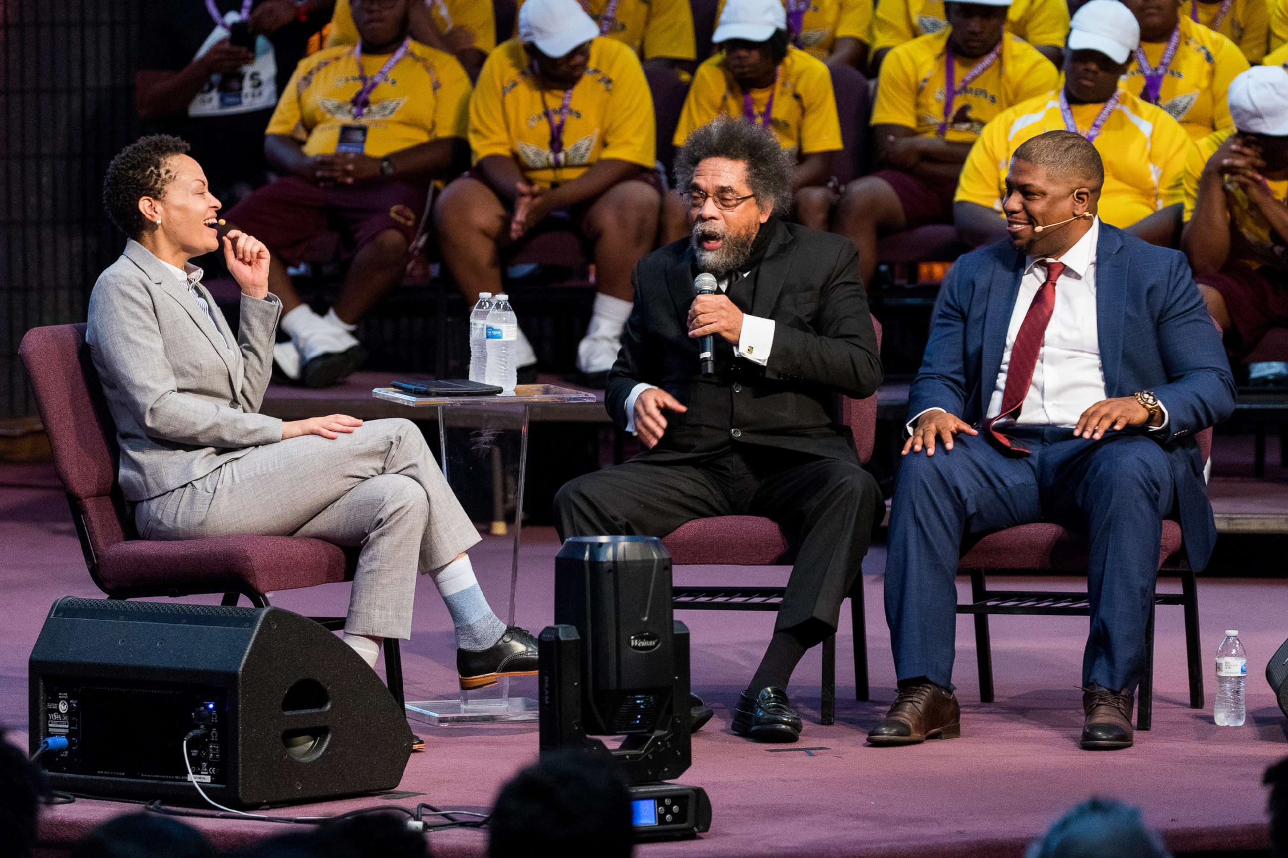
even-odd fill
[{"label": "maroon upholstered chair under the woman in the gray suit", "polygon": [[[139,539],[117,484],[120,452],[84,324],[32,328],[18,347],[67,491],[85,565],[108,598],[223,593],[268,606],[269,592],[353,580],[357,553],[303,536]],[[330,629],[344,617],[313,617]],[[403,704],[402,660],[385,638],[389,691]]]}]

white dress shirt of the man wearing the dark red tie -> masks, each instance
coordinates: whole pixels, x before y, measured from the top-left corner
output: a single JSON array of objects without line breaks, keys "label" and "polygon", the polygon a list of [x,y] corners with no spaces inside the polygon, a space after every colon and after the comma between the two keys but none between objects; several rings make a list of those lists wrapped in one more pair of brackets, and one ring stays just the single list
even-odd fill
[{"label": "white dress shirt of the man wearing the dark red tie", "polygon": [[[1091,229],[1059,259],[1064,270],[1055,283],[1055,310],[1047,323],[1038,350],[1038,361],[1033,368],[1033,379],[1024,396],[1019,417],[1003,417],[994,426],[1063,426],[1073,428],[1082,413],[1096,403],[1106,399],[1105,372],[1100,363],[1099,327],[1096,323],[1096,246],[1100,241],[1100,219],[1091,223]],[[1046,282],[1047,262],[1056,260],[1025,257],[1024,274],[1020,278],[1020,292],[1011,310],[1011,322],[1006,328],[1006,347],[1002,350],[1002,365],[997,373],[997,385],[989,399],[985,419],[1002,410],[1002,395],[1006,391],[1006,377],[1011,365],[1011,349],[1020,333],[1024,316],[1033,304],[1033,297]],[[927,408],[926,412],[942,412],[942,408]],[[908,434],[916,426],[917,414],[908,421]],[[1167,426],[1167,409],[1163,409],[1163,424],[1151,426],[1150,431],[1160,431]]]}]

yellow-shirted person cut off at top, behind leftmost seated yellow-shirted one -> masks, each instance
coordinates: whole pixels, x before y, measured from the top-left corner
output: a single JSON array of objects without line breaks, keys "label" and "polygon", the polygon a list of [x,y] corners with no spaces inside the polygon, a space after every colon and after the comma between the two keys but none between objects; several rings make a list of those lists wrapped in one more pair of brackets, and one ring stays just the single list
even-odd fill
[{"label": "yellow-shirted person cut off at top, behind leftmost seated yellow-shirted one", "polygon": [[[408,30],[420,44],[444,50],[461,60],[471,81],[479,76],[483,60],[496,48],[496,15],[491,0],[411,0]],[[350,0],[335,0],[325,46],[357,42],[358,28],[353,23]]]}]

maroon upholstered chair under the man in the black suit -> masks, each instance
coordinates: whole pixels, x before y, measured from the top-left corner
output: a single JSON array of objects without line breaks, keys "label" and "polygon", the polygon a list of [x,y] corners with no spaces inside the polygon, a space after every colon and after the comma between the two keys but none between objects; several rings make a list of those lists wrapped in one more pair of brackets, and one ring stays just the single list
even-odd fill
[{"label": "maroon upholstered chair under the man in the black suit", "polygon": [[[881,347],[881,324],[872,319]],[[867,399],[841,396],[837,417],[854,434],[859,462],[872,458],[877,424],[877,395]],[[759,516],[717,516],[687,522],[662,539],[676,566],[732,565],[786,566],[792,549],[782,529]],[[786,587],[674,587],[677,610],[777,611]],[[854,695],[868,698],[867,625],[863,617],[862,571],[850,590],[850,628],[854,634]],[[823,641],[823,695],[819,720],[831,724],[836,711],[836,635]]]}]

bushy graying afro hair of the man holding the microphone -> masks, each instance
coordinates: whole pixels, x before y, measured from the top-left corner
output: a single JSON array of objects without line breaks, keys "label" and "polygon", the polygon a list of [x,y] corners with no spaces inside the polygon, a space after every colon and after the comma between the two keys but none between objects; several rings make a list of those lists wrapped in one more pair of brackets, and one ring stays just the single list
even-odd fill
[{"label": "bushy graying afro hair of the man holding the microphone", "polygon": [[694,129],[675,154],[675,187],[688,190],[694,170],[707,158],[742,161],[747,165],[747,185],[756,194],[760,210],[773,203],[777,217],[791,211],[796,165],[769,129],[732,116],[717,116]]}]

